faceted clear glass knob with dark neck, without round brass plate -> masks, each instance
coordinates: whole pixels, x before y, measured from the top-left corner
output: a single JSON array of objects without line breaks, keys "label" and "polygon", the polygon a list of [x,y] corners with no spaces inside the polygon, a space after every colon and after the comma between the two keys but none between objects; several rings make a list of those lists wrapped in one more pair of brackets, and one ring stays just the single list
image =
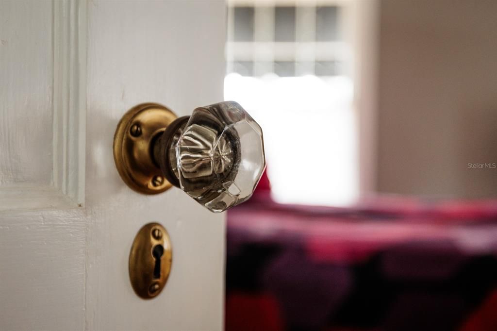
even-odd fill
[{"label": "faceted clear glass knob with dark neck, without round brass plate", "polygon": [[196,108],[154,146],[166,179],[213,212],[247,200],[265,167],[262,130],[234,101]]}]

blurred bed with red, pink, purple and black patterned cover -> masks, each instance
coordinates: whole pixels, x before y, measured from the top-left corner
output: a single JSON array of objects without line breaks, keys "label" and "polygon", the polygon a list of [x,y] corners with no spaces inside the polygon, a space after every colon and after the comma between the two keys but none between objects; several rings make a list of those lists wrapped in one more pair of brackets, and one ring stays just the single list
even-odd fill
[{"label": "blurred bed with red, pink, purple and black patterned cover", "polygon": [[497,330],[497,200],[288,206],[264,187],[228,212],[226,330]]}]

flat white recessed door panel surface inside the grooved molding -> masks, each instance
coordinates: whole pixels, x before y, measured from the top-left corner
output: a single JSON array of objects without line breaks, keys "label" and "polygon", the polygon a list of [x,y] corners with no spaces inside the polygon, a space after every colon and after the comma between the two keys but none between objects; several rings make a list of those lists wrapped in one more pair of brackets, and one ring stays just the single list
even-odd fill
[{"label": "flat white recessed door panel surface inside the grooved molding", "polygon": [[52,181],[52,16],[51,1],[0,2],[2,187]]}]

